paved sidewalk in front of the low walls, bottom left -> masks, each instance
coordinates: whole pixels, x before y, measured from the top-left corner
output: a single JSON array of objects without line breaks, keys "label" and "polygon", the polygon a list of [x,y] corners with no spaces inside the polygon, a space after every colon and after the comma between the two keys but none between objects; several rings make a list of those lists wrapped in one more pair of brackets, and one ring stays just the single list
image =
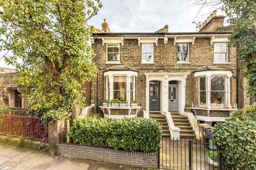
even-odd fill
[{"label": "paved sidewalk in front of the low walls, bottom left", "polygon": [[[142,170],[143,168],[84,159],[51,156],[47,152],[0,143],[0,170]],[[145,169],[146,170],[146,169]]]}]

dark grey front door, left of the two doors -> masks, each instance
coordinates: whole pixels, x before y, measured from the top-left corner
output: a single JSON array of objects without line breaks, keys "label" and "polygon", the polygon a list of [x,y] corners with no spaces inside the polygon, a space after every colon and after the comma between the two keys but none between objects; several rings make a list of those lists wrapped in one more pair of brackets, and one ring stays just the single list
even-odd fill
[{"label": "dark grey front door, left of the two doors", "polygon": [[160,82],[149,82],[149,111],[160,111]]}]

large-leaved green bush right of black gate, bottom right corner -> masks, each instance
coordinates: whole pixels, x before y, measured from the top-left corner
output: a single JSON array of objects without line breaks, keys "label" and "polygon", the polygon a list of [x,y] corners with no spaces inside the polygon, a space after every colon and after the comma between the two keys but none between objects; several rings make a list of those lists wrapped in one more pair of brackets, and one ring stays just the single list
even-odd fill
[{"label": "large-leaved green bush right of black gate, bottom right corner", "polygon": [[227,121],[213,128],[214,143],[229,169],[256,169],[256,122]]}]

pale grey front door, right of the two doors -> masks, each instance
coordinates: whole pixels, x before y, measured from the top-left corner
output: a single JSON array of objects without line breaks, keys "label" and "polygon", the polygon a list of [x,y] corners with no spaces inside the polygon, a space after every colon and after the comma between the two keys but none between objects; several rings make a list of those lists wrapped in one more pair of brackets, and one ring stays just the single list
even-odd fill
[{"label": "pale grey front door, right of the two doors", "polygon": [[169,111],[178,112],[178,85],[169,84]]}]

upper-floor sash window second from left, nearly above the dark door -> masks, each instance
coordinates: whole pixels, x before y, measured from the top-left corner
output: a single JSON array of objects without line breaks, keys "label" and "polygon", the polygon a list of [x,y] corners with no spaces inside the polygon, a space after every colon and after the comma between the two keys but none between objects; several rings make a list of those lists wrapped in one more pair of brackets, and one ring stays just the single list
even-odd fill
[{"label": "upper-floor sash window second from left, nearly above the dark door", "polygon": [[142,44],[141,45],[142,59],[141,63],[154,63],[154,45],[153,44]]}]

